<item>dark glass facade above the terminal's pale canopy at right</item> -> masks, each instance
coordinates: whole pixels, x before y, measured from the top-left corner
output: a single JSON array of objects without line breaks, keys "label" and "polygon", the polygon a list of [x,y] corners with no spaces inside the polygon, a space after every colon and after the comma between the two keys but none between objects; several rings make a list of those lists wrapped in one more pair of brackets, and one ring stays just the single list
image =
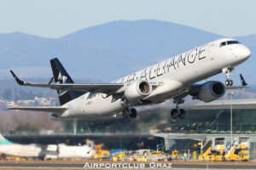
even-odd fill
[{"label": "dark glass facade above the terminal's pale canopy at right", "polygon": [[[185,119],[171,123],[172,133],[230,133],[230,110],[187,112]],[[255,120],[256,110],[233,110],[233,133],[256,133]]]}]

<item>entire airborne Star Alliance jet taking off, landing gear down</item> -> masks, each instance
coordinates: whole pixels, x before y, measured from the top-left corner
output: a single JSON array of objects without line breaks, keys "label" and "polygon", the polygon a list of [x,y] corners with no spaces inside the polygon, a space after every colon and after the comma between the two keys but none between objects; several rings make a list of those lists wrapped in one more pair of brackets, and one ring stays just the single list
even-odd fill
[{"label": "entire airborne Star Alliance jet taking off, landing gear down", "polygon": [[[185,111],[179,105],[188,95],[208,103],[221,98],[226,89],[247,88],[248,85],[233,86],[230,73],[250,56],[251,52],[245,45],[232,38],[222,38],[116,81],[95,84],[74,83],[59,59],[50,59],[54,77],[49,83],[23,82],[14,71],[10,72],[21,86],[57,90],[61,106],[8,109],[46,111],[58,119],[101,119],[120,114],[124,118],[136,118],[134,107],[173,99],[176,107],[171,111],[172,119],[183,119]],[[196,83],[222,72],[227,78],[225,85],[218,81]]]}]

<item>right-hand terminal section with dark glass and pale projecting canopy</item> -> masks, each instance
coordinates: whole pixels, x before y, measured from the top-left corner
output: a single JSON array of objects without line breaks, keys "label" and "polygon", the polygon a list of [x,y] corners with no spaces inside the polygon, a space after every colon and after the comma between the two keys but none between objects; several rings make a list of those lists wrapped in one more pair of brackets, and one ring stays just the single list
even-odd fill
[{"label": "right-hand terminal section with dark glass and pale projecting canopy", "polygon": [[171,133],[156,133],[165,139],[166,150],[193,150],[192,145],[207,139],[250,139],[250,159],[256,159],[256,110],[232,111],[232,136],[230,110],[187,111],[186,118],[171,123]]}]

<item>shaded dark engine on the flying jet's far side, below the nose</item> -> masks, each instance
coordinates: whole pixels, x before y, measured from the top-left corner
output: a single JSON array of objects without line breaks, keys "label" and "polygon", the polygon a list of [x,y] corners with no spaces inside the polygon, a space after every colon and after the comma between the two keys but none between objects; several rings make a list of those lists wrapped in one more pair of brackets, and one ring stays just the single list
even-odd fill
[{"label": "shaded dark engine on the flying jet's far side, below the nose", "polygon": [[221,98],[224,94],[225,87],[222,82],[209,81],[201,86],[198,93],[198,99],[207,103]]}]

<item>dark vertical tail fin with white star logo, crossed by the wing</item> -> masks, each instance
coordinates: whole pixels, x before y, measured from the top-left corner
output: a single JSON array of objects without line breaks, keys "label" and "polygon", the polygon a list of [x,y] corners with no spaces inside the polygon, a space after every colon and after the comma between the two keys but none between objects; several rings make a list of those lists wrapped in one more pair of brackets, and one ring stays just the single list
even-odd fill
[{"label": "dark vertical tail fin with white star logo, crossed by the wing", "polygon": [[[61,65],[59,59],[50,59],[51,69],[54,75],[55,83],[74,83],[72,78],[67,74],[67,71]],[[53,78],[49,83],[53,82]],[[60,104],[64,105],[70,100],[76,99],[83,95],[84,92],[73,91],[73,90],[57,90],[59,95]]]}]

